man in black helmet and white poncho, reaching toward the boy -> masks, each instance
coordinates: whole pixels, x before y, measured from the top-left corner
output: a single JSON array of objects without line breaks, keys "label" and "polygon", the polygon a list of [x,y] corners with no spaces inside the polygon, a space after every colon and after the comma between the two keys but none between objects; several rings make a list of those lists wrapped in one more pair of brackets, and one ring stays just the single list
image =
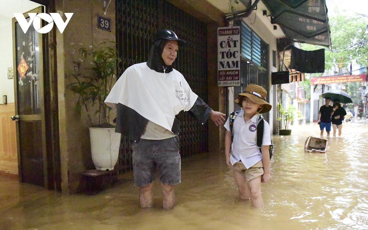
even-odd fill
[{"label": "man in black helmet and white poncho, reaching toward the boy", "polygon": [[142,208],[152,206],[155,168],[163,190],[163,208],[175,205],[174,185],[180,183],[178,134],[175,116],[190,111],[201,123],[210,117],[222,125],[225,114],[215,112],[192,92],[183,75],[174,70],[183,40],[168,29],[156,33],[146,63],[135,64],[121,75],[105,102],[117,109],[116,132],[134,140],[134,184],[140,187]]}]

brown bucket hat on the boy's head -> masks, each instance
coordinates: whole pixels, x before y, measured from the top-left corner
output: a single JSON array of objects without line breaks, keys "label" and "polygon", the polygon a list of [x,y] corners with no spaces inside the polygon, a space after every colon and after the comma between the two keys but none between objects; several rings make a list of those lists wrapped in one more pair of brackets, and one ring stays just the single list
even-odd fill
[{"label": "brown bucket hat on the boy's head", "polygon": [[267,91],[263,89],[262,86],[259,85],[248,85],[243,93],[238,94],[238,99],[235,100],[240,107],[243,107],[241,104],[241,97],[246,96],[252,100],[252,102],[263,105],[262,109],[258,113],[267,113],[270,112],[272,105],[266,102]]}]

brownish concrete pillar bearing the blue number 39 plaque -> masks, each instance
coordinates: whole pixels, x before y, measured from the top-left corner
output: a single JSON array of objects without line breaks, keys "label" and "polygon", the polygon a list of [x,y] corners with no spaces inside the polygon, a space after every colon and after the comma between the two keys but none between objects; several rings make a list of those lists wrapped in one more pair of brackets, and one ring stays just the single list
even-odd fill
[{"label": "brownish concrete pillar bearing the blue number 39 plaque", "polygon": [[100,0],[55,1],[55,10],[74,13],[64,32],[56,32],[61,191],[72,194],[77,192],[80,173],[94,166],[88,130],[91,124],[84,110],[78,115],[75,109],[78,97],[67,86],[75,82],[71,74],[80,74],[81,78],[92,75],[89,70],[92,57],[88,55],[84,60],[78,52],[80,48],[115,41],[115,1],[110,3],[106,14],[111,20],[111,32],[99,29],[95,23],[98,15],[104,15]]}]

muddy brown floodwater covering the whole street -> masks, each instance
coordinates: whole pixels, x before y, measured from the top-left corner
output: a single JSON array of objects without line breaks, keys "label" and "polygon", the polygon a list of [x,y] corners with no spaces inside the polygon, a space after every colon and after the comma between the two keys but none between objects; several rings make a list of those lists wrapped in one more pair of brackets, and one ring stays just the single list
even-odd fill
[{"label": "muddy brown floodwater covering the whole street", "polygon": [[0,229],[368,229],[368,124],[343,124],[326,153],[304,152],[305,140],[319,132],[317,124],[294,125],[291,136],[272,137],[262,209],[238,199],[223,153],[203,153],[182,159],[173,210],[162,209],[157,180],[153,208],[139,208],[131,173],[96,195],[64,195],[0,176]]}]

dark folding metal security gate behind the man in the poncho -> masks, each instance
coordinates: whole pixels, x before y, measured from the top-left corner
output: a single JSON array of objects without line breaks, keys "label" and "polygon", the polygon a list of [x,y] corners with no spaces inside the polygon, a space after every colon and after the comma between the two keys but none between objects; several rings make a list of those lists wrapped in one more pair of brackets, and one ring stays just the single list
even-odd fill
[{"label": "dark folding metal security gate behind the man in the poncho", "polygon": [[[148,59],[158,29],[171,29],[187,45],[180,47],[173,67],[187,79],[191,89],[207,102],[206,24],[165,0],[116,0],[116,42],[120,76],[129,66]],[[208,128],[188,113],[180,118],[180,154],[208,151]],[[131,168],[131,141],[122,137],[119,164]]]}]

